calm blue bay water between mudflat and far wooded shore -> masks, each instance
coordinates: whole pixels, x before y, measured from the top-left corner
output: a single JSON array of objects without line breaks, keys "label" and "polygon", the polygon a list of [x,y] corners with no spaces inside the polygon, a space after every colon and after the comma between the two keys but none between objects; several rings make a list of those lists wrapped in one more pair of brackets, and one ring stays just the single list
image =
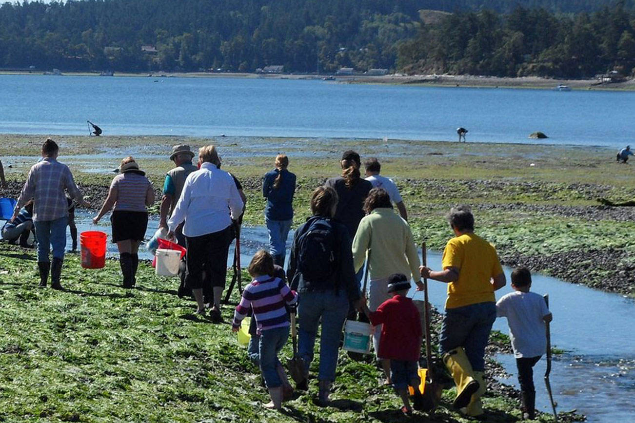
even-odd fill
[{"label": "calm blue bay water between mudflat and far wooded shore", "polygon": [[635,93],[337,84],[316,80],[0,76],[0,133],[302,136],[620,148]]}]

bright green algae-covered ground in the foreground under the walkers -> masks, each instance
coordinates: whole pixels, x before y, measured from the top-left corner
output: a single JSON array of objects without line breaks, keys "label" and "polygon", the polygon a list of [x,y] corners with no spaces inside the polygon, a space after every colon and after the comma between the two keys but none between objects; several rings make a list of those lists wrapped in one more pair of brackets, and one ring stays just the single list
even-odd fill
[{"label": "bright green algae-covered ground in the foreground under the walkers", "polygon": [[[0,421],[467,421],[449,409],[453,390],[434,415],[402,417],[396,396],[378,386],[377,368],[343,352],[333,407],[315,405],[312,379],[282,412],[265,410],[258,368],[231,332],[230,306],[218,325],[194,316],[195,304],[175,295],[177,279],[156,277],[148,263],[126,290],[117,261],[84,270],[70,254],[58,292],[37,288],[34,251],[0,244],[0,257]],[[290,342],[282,355],[291,355]],[[516,421],[518,401],[495,385],[484,399],[487,421]]]}]

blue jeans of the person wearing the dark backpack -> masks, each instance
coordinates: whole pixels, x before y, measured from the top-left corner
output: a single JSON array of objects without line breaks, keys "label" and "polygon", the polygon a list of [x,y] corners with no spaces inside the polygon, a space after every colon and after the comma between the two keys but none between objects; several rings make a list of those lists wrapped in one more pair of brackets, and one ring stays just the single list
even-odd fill
[{"label": "blue jeans of the person wearing the dark backpack", "polygon": [[318,334],[318,325],[322,322],[322,334],[319,346],[318,380],[335,381],[337,353],[340,349],[340,336],[344,320],[349,311],[349,300],[344,290],[321,292],[300,292],[298,294],[298,316],[300,330],[298,336],[298,355],[304,358],[309,372],[313,360],[313,348]]}]

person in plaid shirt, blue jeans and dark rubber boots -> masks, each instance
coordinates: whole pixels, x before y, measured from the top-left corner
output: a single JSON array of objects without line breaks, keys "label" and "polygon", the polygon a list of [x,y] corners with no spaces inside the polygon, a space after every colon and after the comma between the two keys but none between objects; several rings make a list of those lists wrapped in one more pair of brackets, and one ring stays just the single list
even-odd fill
[{"label": "person in plaid shirt, blue jeans and dark rubber boots", "polygon": [[[65,192],[68,192],[77,204],[90,207],[75,185],[69,167],[57,161],[59,153],[60,148],[57,143],[47,138],[42,145],[43,159],[31,167],[11,218],[11,221],[17,218],[20,209],[31,198],[33,199],[39,286],[46,287],[50,272],[53,289],[62,289],[60,278],[66,249],[66,226],[69,214]],[[51,246],[53,247],[53,263],[49,259]]]}]

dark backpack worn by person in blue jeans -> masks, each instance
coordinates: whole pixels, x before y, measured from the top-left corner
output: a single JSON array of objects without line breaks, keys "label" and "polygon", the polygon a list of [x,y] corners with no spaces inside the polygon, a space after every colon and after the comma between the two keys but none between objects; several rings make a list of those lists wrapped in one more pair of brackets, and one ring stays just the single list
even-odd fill
[{"label": "dark backpack worn by person in blue jeans", "polygon": [[337,230],[328,218],[315,219],[298,238],[298,272],[307,282],[330,282],[337,275]]}]

